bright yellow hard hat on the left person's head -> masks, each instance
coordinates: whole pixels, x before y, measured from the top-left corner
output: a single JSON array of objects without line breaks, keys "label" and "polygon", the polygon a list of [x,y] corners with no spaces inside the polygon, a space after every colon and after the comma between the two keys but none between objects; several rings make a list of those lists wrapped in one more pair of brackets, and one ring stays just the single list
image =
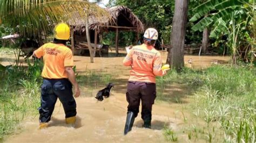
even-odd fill
[{"label": "bright yellow hard hat on the left person's head", "polygon": [[54,28],[54,37],[59,40],[69,40],[70,38],[70,28],[69,25],[65,23],[60,23]]}]

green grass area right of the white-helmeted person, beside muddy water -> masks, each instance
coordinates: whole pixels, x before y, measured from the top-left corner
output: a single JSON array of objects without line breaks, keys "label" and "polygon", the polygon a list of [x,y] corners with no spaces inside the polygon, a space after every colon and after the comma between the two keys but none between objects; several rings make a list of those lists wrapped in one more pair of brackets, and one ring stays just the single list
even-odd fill
[{"label": "green grass area right of the white-helmeted person, beside muddy water", "polygon": [[[214,66],[205,70],[184,69],[181,73],[171,71],[168,75],[158,78],[158,91],[170,83],[184,83],[193,88],[195,95],[191,102],[192,112],[196,117],[204,119],[208,141],[213,140],[213,134],[219,128],[224,134],[219,134],[225,142],[255,141],[255,93],[256,69],[248,66],[230,68]],[[160,83],[160,84],[159,84]],[[163,93],[161,96],[168,96]],[[174,97],[172,97],[174,98]],[[166,101],[166,99],[164,99]],[[170,99],[169,101],[175,101]],[[190,118],[187,118],[190,120]],[[198,130],[188,132],[198,133]],[[192,135],[193,136],[193,135]],[[198,136],[198,135],[197,135]]]}]

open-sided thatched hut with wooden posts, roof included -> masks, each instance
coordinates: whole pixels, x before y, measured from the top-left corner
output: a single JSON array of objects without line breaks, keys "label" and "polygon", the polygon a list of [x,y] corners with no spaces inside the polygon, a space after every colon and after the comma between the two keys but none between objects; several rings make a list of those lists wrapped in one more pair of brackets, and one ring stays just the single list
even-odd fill
[{"label": "open-sided thatched hut with wooden posts, roof included", "polygon": [[[132,11],[126,6],[114,6],[112,8],[106,8],[107,12],[110,13],[109,17],[103,17],[101,19],[96,19],[93,16],[89,16],[89,29],[90,29],[90,39],[95,41],[95,45],[98,42],[98,34],[106,31],[116,31],[116,54],[118,55],[118,32],[119,31],[134,31],[137,32],[137,39],[139,33],[144,31],[143,24],[140,22],[138,17],[132,13]],[[85,33],[86,21],[80,18],[79,13],[73,13],[73,17],[76,17],[77,20],[70,22],[72,25],[73,31],[75,31],[75,43],[76,40],[80,41],[86,37],[81,37],[79,33]],[[85,35],[85,34],[83,34]],[[77,38],[77,39],[76,39]],[[91,42],[91,41],[90,41]]]}]

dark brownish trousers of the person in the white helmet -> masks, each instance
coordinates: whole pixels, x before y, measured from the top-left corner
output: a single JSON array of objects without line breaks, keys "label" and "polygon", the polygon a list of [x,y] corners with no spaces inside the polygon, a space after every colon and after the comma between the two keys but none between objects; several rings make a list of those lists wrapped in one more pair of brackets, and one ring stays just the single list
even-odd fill
[{"label": "dark brownish trousers of the person in the white helmet", "polygon": [[152,105],[156,99],[156,83],[129,81],[126,92],[126,100],[129,103],[127,110],[132,111],[135,117],[138,116],[140,99],[142,100],[142,119],[151,120]]}]

